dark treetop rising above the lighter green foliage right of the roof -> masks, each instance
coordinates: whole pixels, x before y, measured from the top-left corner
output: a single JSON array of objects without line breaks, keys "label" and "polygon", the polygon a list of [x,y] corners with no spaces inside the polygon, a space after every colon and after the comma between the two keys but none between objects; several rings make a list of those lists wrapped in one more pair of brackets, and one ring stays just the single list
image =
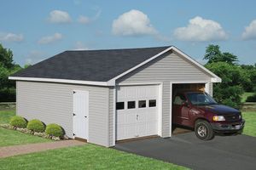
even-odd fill
[{"label": "dark treetop rising above the lighter green foliage right of the roof", "polygon": [[207,63],[225,62],[231,65],[236,65],[238,58],[234,54],[222,53],[218,45],[210,44],[206,49],[206,54],[203,59],[207,59]]}]

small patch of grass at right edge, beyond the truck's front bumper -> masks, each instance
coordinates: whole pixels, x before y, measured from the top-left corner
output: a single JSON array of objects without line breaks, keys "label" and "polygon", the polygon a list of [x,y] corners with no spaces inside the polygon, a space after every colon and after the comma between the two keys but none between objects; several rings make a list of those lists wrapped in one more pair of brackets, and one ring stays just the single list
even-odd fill
[{"label": "small patch of grass at right edge, beyond the truck's front bumper", "polygon": [[243,112],[242,116],[246,120],[243,134],[256,137],[256,112]]}]

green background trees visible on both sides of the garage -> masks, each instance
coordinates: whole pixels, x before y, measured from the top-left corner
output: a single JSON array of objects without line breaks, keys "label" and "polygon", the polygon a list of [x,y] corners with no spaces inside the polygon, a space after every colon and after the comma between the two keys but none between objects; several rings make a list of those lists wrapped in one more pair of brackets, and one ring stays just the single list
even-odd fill
[{"label": "green background trees visible on both sides of the garage", "polygon": [[[218,103],[238,108],[241,94],[255,93],[251,101],[256,101],[256,64],[238,65],[239,59],[229,52],[222,52],[218,45],[210,44],[204,58],[208,70],[222,78],[221,83],[213,84],[213,98]],[[0,102],[15,101],[15,81],[8,77],[16,71],[25,69],[15,64],[13,52],[0,44]]]}]

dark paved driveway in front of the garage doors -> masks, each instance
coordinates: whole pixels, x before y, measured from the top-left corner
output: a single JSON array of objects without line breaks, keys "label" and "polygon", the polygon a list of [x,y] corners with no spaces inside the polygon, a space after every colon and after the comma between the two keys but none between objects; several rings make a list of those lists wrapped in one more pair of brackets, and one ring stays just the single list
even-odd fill
[{"label": "dark paved driveway in front of the garage doors", "polygon": [[114,148],[192,169],[256,169],[256,138],[247,135],[216,136],[210,141],[201,141],[193,132],[169,139],[119,143]]}]

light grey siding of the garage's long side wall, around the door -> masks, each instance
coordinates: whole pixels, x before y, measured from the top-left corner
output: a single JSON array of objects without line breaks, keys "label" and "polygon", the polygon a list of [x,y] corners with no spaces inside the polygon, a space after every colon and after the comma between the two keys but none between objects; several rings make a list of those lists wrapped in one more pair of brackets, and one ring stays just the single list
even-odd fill
[{"label": "light grey siding of the garage's long side wall, around the door", "polygon": [[109,88],[50,82],[16,82],[17,115],[63,127],[73,138],[73,90],[89,91],[89,142],[109,145]]}]

